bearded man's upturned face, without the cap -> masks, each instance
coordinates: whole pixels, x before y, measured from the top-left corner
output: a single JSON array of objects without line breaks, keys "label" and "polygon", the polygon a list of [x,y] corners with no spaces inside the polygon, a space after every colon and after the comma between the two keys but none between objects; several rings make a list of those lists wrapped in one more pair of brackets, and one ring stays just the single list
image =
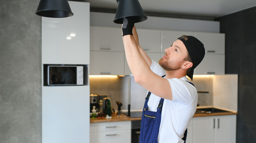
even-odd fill
[{"label": "bearded man's upturned face, without the cap", "polygon": [[164,50],[164,56],[159,60],[160,66],[165,71],[174,71],[181,68],[187,56],[187,49],[181,40],[173,42],[171,47]]}]

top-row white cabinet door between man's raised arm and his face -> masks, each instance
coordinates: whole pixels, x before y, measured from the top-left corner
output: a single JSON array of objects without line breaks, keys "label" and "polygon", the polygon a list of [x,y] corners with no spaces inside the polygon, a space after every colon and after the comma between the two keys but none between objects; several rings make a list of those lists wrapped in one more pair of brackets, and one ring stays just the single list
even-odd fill
[{"label": "top-row white cabinet door between man's raised arm and his face", "polygon": [[139,45],[145,52],[160,53],[161,31],[149,29],[136,29]]}]

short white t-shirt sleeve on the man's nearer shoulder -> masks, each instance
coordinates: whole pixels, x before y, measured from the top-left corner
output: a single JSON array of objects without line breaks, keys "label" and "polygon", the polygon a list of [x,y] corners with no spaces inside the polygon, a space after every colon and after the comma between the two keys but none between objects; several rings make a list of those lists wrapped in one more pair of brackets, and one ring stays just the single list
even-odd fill
[{"label": "short white t-shirt sleeve on the man's nearer shoulder", "polygon": [[178,78],[168,79],[172,89],[172,102],[189,105],[196,96],[196,89],[190,83]]}]

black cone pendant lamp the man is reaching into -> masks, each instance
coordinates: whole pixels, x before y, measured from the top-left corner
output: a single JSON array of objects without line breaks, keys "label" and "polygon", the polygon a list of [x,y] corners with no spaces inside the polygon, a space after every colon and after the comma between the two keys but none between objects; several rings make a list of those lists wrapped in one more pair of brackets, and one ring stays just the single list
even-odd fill
[{"label": "black cone pendant lamp the man is reaching into", "polygon": [[113,22],[116,24],[123,24],[124,17],[132,17],[135,23],[147,19],[139,4],[139,0],[119,0],[116,17]]}]

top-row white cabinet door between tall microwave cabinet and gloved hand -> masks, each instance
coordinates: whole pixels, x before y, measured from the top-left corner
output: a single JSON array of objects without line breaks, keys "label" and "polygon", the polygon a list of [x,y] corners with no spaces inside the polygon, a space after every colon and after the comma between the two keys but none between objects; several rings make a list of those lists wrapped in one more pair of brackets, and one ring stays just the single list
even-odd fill
[{"label": "top-row white cabinet door between tall microwave cabinet and gloved hand", "polygon": [[90,27],[91,51],[124,51],[122,29],[114,27]]}]

